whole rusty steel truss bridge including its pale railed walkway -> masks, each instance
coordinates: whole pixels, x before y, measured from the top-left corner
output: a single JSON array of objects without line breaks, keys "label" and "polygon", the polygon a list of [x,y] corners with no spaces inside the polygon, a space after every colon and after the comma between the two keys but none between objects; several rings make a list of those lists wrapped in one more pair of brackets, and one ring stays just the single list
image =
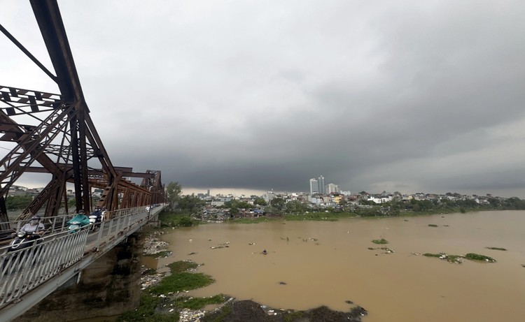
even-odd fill
[{"label": "whole rusty steel truss bridge including its pale railed walkway", "polygon": [[[24,312],[87,267],[145,224],[151,216],[146,205],[166,200],[160,170],[136,173],[130,167],[113,166],[90,117],[57,1],[30,3],[55,73],[1,24],[0,31],[27,56],[29,64],[32,61],[57,84],[59,93],[0,85],[0,144],[6,152],[0,161],[0,230],[13,229],[34,214],[52,228],[23,260],[16,252],[2,254],[0,249],[5,263],[0,275],[2,318]],[[17,221],[10,222],[6,198],[17,180],[31,173],[47,174],[50,180]],[[72,210],[68,209],[68,184],[74,187]],[[94,188],[103,191],[96,201]],[[95,206],[106,207],[111,214],[96,236],[87,230],[62,231],[69,214],[81,209],[90,213]],[[31,265],[35,261],[38,265]]]}]

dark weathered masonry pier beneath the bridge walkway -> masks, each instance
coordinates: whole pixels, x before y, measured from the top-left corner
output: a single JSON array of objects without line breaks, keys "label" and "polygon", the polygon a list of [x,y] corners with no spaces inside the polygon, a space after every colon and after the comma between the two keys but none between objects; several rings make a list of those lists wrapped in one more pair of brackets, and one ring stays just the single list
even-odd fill
[{"label": "dark weathered masonry pier beneath the bridge walkway", "polygon": [[65,322],[114,316],[135,309],[140,301],[143,247],[140,233],[130,235],[67,282],[70,287],[48,295],[13,321]]}]

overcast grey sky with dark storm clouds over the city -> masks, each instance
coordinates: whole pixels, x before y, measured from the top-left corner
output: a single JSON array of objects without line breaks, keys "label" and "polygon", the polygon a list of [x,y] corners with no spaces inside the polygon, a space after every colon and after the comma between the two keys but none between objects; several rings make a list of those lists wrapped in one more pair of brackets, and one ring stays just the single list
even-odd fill
[{"label": "overcast grey sky with dark storm clouds over the city", "polygon": [[[58,3],[115,166],[186,193],[525,198],[525,1]],[[0,23],[52,70],[29,1]],[[0,57],[1,85],[58,92],[1,34]]]}]

